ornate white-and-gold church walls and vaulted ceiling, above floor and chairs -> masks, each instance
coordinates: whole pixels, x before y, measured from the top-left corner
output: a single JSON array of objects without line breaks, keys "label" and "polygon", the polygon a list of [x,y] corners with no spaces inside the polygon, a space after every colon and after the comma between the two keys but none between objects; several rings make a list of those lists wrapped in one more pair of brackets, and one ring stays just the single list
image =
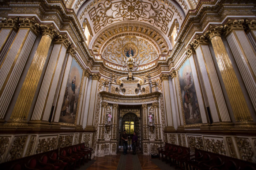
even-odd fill
[{"label": "ornate white-and-gold church walls and vaulted ceiling, above floor and chairs", "polygon": [[0,163],[80,143],[122,156],[124,130],[139,158],[172,144],[256,163],[255,14],[253,0],[1,0]]}]

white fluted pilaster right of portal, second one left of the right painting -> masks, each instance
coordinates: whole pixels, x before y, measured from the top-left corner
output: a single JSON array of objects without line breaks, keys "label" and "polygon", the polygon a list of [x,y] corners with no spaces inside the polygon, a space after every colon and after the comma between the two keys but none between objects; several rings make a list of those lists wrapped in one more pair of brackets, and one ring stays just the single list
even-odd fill
[{"label": "white fluted pilaster right of portal, second one left of the right painting", "polygon": [[169,91],[169,75],[161,74],[160,79],[162,80],[163,87],[163,101],[165,106],[165,122],[167,122],[167,126],[173,126],[172,120],[172,109],[171,109],[171,101],[170,101],[170,91]]}]

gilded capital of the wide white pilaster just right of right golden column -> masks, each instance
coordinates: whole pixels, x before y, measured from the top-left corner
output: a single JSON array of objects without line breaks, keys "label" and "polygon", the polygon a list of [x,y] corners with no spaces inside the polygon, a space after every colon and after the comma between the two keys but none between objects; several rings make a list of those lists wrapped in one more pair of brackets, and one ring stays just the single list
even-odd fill
[{"label": "gilded capital of the wide white pilaster just right of right golden column", "polygon": [[240,20],[228,19],[227,23],[223,27],[223,31],[225,33],[225,36],[229,35],[229,33],[231,31],[233,31],[234,29],[244,30],[244,23],[245,23],[244,19],[240,19]]}]

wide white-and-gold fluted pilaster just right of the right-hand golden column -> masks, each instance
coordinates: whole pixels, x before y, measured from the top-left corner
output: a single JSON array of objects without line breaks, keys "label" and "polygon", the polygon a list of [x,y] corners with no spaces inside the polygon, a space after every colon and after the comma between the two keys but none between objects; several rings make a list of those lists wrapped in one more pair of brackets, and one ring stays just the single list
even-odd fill
[{"label": "wide white-and-gold fluted pilaster just right of the right-hand golden column", "polygon": [[256,54],[244,32],[244,20],[228,20],[225,35],[256,112]]}]

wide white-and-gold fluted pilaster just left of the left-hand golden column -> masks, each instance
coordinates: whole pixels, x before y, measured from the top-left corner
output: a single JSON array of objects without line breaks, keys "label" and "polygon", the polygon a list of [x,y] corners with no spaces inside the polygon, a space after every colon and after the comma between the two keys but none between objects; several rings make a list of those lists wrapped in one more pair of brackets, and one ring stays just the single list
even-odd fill
[{"label": "wide white-and-gold fluted pilaster just left of the left-hand golden column", "polygon": [[39,34],[35,20],[20,19],[19,30],[3,58],[0,66],[0,119],[3,120],[11,103],[18,80],[34,46],[35,39]]}]

